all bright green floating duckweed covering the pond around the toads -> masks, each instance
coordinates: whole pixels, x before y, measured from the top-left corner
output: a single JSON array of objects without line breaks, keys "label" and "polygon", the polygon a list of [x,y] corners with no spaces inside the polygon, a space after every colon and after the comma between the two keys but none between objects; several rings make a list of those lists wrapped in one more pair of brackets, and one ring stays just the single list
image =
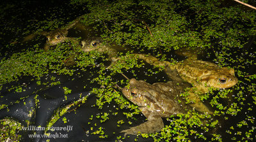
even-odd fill
[{"label": "all bright green floating duckweed covering the pond around the toads", "polygon": [[[208,101],[214,108],[213,117],[223,117],[225,121],[234,122],[229,125],[230,127],[221,128],[225,129],[223,135],[226,138],[232,138],[234,141],[255,140],[253,111],[256,105],[256,97],[254,97],[256,75],[248,72],[250,67],[256,66],[256,50],[253,48],[256,44],[255,11],[246,10],[239,4],[228,5],[217,0],[72,0],[70,4],[85,5],[88,8],[90,12],[83,16],[84,20],[81,22],[100,31],[99,36],[104,41],[129,47],[131,51],[118,53],[120,60],[111,67],[107,67],[105,61],[109,59],[103,53],[96,51],[85,53],[79,49],[79,45],[62,43],[48,52],[36,45],[32,48],[33,50],[29,48],[1,60],[1,85],[17,81],[20,76],[40,78],[49,73],[71,76],[77,68],[86,71],[88,66],[91,66],[97,68],[97,77],[92,78],[92,83],[97,82],[102,86],[91,91],[97,96],[98,108],[102,109],[104,104],[114,101],[118,104],[116,109],[131,109],[124,115],[134,119],[134,116],[140,114],[138,106],[127,101],[115,87],[116,84],[125,86],[128,83],[128,80],[116,79],[117,75],[125,71],[136,75],[136,69],[143,70],[145,63],[136,59],[133,53],[146,53],[161,60],[177,62],[180,59],[173,58],[175,50],[199,47],[200,52],[205,52],[202,60],[209,60],[219,66],[232,67],[239,78],[239,82],[231,90],[212,89],[201,99]],[[40,25],[47,25],[46,29],[55,29],[56,23],[58,22],[54,24],[47,21],[38,22]],[[70,57],[75,61],[72,67],[65,64]],[[95,64],[99,60],[102,62]],[[159,69],[161,70],[163,68]],[[151,69],[148,71],[150,75],[156,75]],[[17,92],[22,91],[22,87],[13,89]],[[64,90],[67,94],[70,93],[70,90]],[[58,110],[56,117],[49,125],[54,124],[65,112],[67,112],[66,108]],[[102,114],[99,117],[102,123],[108,121],[109,115],[111,114]],[[155,141],[193,141],[193,139],[223,141],[221,134],[217,132],[207,135],[207,132],[221,125],[221,121],[215,119],[203,124],[203,120],[208,118],[210,118],[209,115],[196,111],[172,116],[167,119],[170,120],[170,124],[166,125],[161,132],[141,134],[141,136],[152,137]],[[123,124],[123,120],[120,122]],[[104,131],[108,130],[99,127],[93,134],[99,134],[100,138],[108,138]]]}]

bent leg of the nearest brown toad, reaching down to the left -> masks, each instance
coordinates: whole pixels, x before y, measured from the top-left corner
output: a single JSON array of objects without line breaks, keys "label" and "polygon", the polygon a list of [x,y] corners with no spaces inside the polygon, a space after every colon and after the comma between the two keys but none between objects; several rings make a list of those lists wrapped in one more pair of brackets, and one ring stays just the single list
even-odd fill
[{"label": "bent leg of the nearest brown toad, reaching down to the left", "polygon": [[141,111],[145,115],[145,117],[147,117],[148,121],[135,127],[131,127],[130,129],[121,131],[125,132],[124,136],[126,136],[127,134],[136,135],[138,134],[138,132],[140,132],[141,134],[150,134],[154,132],[159,132],[161,131],[161,129],[163,129],[163,120],[157,112],[150,112],[149,115],[146,115],[143,110]]}]

